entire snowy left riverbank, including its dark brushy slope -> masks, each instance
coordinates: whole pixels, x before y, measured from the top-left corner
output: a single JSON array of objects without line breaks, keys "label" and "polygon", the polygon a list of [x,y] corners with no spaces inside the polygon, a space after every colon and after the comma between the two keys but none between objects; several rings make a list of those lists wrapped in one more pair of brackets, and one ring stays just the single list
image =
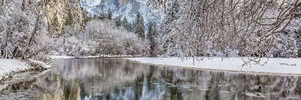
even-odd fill
[{"label": "entire snowy left riverbank, including its dark brushy slope", "polygon": [[21,60],[0,58],[0,81],[12,78],[12,74],[28,70],[51,68],[50,65],[38,60]]}]

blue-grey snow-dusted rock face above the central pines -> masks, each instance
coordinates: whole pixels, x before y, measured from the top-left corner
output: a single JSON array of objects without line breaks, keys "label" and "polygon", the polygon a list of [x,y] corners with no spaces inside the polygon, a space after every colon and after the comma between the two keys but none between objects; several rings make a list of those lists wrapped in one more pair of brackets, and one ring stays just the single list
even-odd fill
[{"label": "blue-grey snow-dusted rock face above the central pines", "polygon": [[100,4],[92,6],[90,14],[107,12],[108,9],[112,11],[113,18],[120,15],[121,18],[127,17],[129,22],[133,22],[137,12],[140,12],[145,27],[149,22],[160,24],[165,17],[164,9],[154,8],[149,0],[102,0]]}]

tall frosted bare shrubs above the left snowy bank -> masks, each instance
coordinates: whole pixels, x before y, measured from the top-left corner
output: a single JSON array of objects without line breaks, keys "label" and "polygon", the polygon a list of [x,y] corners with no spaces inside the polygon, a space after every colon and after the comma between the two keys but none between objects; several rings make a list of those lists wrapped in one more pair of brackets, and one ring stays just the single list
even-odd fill
[{"label": "tall frosted bare shrubs above the left snowy bank", "polygon": [[43,5],[38,0],[4,0],[0,6],[0,54],[2,57],[33,58],[55,48],[48,32]]}]

